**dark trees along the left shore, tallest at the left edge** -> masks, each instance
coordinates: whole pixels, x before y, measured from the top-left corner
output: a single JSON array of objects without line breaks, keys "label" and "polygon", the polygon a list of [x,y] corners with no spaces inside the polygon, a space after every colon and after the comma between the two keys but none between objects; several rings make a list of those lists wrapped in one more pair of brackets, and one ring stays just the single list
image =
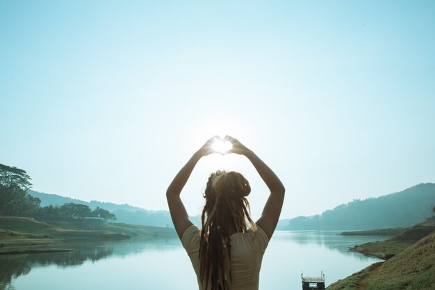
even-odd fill
[{"label": "dark trees along the left shore, tallest at the left edge", "polygon": [[27,193],[32,185],[25,170],[0,164],[0,216],[26,216],[39,219],[81,219],[85,217],[116,220],[115,214],[85,204],[65,203],[41,207],[41,200]]}]

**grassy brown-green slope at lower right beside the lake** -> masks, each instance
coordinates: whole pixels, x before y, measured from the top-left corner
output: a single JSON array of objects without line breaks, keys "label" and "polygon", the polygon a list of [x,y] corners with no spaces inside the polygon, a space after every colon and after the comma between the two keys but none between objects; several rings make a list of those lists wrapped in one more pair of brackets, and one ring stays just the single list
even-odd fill
[{"label": "grassy brown-green slope at lower right beside the lake", "polygon": [[435,289],[435,217],[386,241],[350,250],[386,261],[338,280],[328,290]]}]

